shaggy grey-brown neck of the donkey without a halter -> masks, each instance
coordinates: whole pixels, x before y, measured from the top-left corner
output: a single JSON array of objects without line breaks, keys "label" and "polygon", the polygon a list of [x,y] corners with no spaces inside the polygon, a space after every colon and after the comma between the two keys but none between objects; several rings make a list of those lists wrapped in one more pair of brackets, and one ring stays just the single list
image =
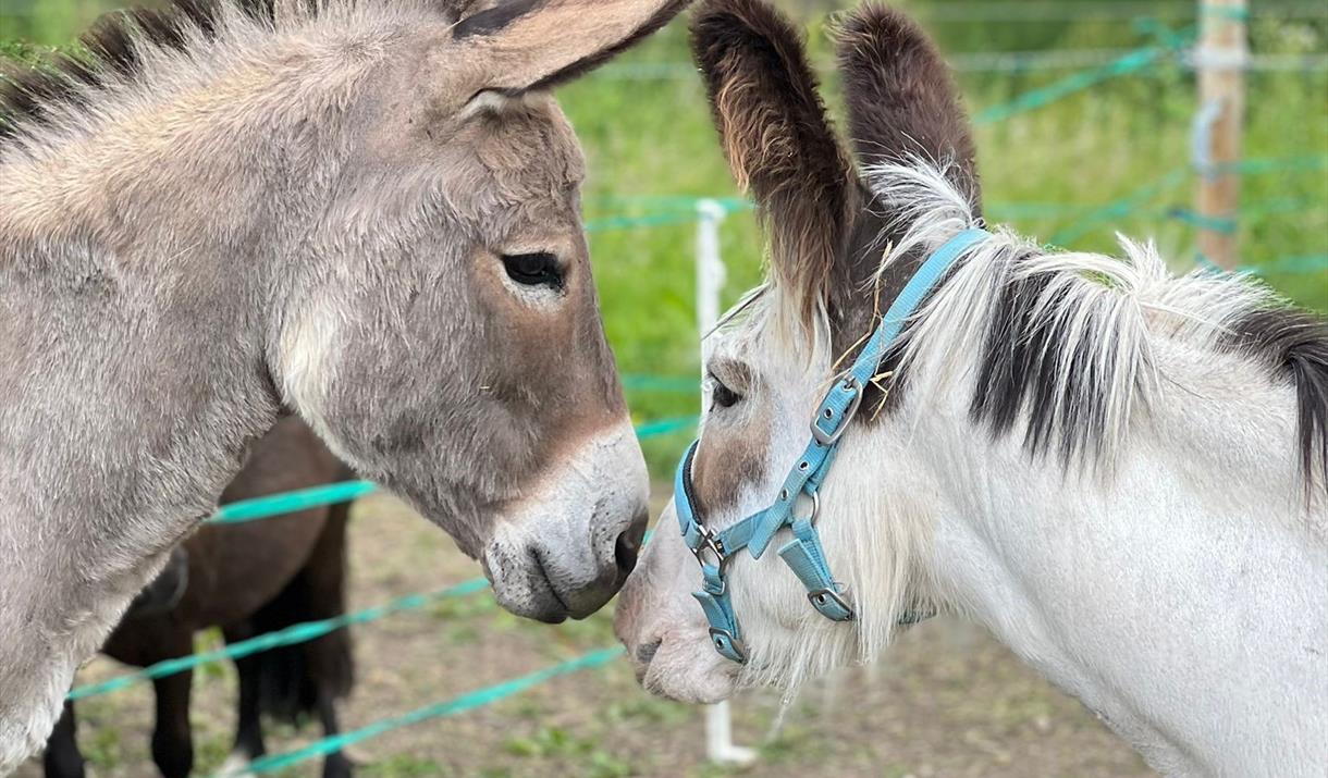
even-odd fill
[{"label": "shaggy grey-brown neck of the donkey without a halter", "polygon": [[[337,163],[280,106],[308,108],[287,90],[324,70],[335,113],[372,66],[373,41],[337,33],[351,7],[333,8],[278,29],[220,4],[206,28],[181,16],[162,40],[143,27],[121,41],[127,58],[8,96],[0,356],[41,380],[0,376],[0,519],[36,519],[0,520],[0,774],[41,745],[77,662],[278,418],[270,260],[317,195],[283,178],[291,153],[316,157],[301,166],[324,181]],[[106,358],[89,361],[86,333]],[[135,389],[149,374],[150,394]]]}]

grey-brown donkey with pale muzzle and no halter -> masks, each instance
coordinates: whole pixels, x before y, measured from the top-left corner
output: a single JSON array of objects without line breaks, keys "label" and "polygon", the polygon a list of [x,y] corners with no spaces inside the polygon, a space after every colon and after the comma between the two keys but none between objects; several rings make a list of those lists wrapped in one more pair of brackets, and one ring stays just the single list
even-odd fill
[{"label": "grey-brown donkey with pale muzzle and no halter", "polygon": [[0,774],[299,414],[544,621],[647,475],[550,88],[687,0],[175,0],[0,101]]}]

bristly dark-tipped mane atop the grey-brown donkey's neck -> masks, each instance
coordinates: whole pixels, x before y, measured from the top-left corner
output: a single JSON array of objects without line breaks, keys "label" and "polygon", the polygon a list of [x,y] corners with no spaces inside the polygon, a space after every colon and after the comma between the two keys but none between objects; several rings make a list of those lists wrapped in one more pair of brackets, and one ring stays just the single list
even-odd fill
[{"label": "bristly dark-tipped mane atop the grey-brown donkey's neck", "polygon": [[78,53],[5,72],[0,159],[114,153],[125,146],[117,135],[167,121],[182,105],[210,105],[215,131],[247,127],[254,112],[279,119],[283,106],[307,108],[308,84],[333,108],[363,77],[356,62],[372,65],[429,19],[409,1],[275,3],[279,11],[274,0],[175,0],[108,15]]}]

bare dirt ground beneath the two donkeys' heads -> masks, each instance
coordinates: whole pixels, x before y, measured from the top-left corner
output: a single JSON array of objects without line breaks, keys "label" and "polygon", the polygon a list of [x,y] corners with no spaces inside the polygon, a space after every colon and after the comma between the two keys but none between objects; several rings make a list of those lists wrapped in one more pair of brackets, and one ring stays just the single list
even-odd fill
[{"label": "bare dirt ground beneath the two donkeys' heads", "polygon": [[[364,608],[478,575],[437,528],[388,497],[364,499],[352,522],[352,605]],[[359,684],[345,729],[449,700],[614,644],[611,616],[544,627],[498,609],[487,592],[448,599],[355,628]],[[201,644],[215,641],[205,635]],[[98,659],[80,682],[125,669]],[[224,759],[234,728],[234,673],[194,682],[199,775]],[[495,705],[365,741],[349,753],[367,778],[445,777],[1143,777],[1142,761],[981,631],[935,619],[910,631],[875,668],[843,670],[802,690],[782,728],[781,700],[750,692],[733,704],[736,739],[760,747],[746,769],[705,762],[700,709],[645,696],[619,660],[563,676]],[[147,778],[149,686],[80,704],[92,778]],[[270,751],[319,737],[270,728]],[[307,762],[282,775],[317,775]],[[37,778],[37,762],[17,778]]]}]

